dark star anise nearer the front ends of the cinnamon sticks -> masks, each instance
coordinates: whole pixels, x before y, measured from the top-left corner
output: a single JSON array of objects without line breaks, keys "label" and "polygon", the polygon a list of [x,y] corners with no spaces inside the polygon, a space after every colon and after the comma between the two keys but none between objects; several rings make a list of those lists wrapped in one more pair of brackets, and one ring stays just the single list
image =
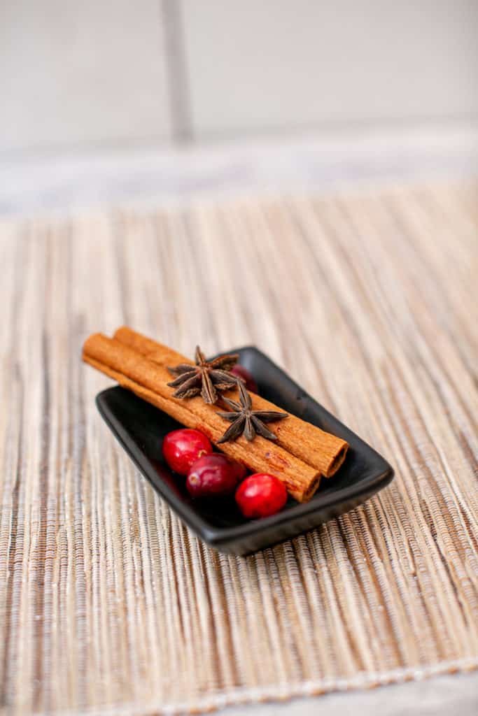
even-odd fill
[{"label": "dark star anise nearer the front ends of the cinnamon sticks", "polygon": [[221,437],[219,442],[227,442],[228,440],[236,440],[239,435],[244,434],[246,440],[254,440],[257,435],[267,437],[267,440],[277,440],[277,435],[267,430],[264,422],[273,422],[274,420],[282,420],[287,417],[287,412],[277,412],[276,410],[252,410],[251,396],[247,392],[242,382],[237,383],[239,388],[239,400],[229,400],[229,398],[222,397],[222,400],[228,407],[231,408],[232,412],[219,412],[218,415],[224,417],[224,420],[229,420],[232,423],[231,427],[228,427],[224,435]]}]

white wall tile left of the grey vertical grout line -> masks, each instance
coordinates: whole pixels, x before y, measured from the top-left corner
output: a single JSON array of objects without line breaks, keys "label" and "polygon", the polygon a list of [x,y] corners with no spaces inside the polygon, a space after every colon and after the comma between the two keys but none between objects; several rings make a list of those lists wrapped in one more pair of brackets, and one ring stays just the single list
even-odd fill
[{"label": "white wall tile left of the grey vertical grout line", "polygon": [[0,150],[171,137],[158,0],[0,0]]}]

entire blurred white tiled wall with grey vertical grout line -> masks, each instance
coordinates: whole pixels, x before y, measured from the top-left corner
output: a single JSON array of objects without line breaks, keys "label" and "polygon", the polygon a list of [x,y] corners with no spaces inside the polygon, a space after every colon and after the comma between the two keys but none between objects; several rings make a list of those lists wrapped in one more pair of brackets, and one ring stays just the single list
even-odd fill
[{"label": "entire blurred white tiled wall with grey vertical grout line", "polygon": [[478,0],[0,0],[0,152],[476,120]]}]

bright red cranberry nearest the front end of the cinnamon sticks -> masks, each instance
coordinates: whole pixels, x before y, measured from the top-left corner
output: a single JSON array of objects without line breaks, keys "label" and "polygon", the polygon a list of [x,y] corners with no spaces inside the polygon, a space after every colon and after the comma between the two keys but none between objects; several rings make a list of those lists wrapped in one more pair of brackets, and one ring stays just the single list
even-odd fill
[{"label": "bright red cranberry nearest the front end of the cinnamon sticks", "polygon": [[244,517],[268,517],[282,510],[287,502],[284,483],[275,475],[249,475],[236,490],[236,503]]}]

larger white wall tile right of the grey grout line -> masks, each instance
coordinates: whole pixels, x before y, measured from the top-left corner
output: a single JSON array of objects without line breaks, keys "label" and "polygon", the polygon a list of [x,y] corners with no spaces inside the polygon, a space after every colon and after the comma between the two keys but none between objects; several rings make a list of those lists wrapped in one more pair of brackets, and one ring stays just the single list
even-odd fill
[{"label": "larger white wall tile right of the grey grout line", "polygon": [[478,115],[478,1],[183,0],[199,137]]}]

